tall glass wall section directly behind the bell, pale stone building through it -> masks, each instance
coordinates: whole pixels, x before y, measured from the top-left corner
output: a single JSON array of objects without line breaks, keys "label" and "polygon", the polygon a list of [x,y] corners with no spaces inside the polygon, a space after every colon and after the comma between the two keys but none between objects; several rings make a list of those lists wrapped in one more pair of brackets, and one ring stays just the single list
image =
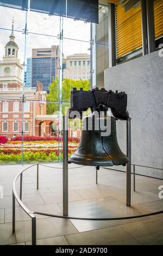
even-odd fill
[{"label": "tall glass wall section directly behind the bell, pale stone building through it", "polygon": [[[71,30],[68,28],[69,22],[71,23]],[[79,38],[83,38],[83,41],[78,40]],[[80,88],[83,88],[83,90],[89,90],[91,88],[90,46],[90,24],[64,19],[64,56],[62,59],[63,113],[65,113],[65,109],[70,107],[70,94],[73,87],[76,87],[78,90]],[[81,125],[82,120],[80,119],[69,120],[68,155],[71,155],[78,147],[82,134]]]}]

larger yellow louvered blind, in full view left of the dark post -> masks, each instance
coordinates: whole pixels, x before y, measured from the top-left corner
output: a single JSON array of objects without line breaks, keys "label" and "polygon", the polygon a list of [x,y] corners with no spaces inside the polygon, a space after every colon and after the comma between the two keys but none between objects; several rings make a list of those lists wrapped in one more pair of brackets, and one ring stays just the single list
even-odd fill
[{"label": "larger yellow louvered blind, in full view left of the dark post", "polygon": [[142,46],[141,7],[131,8],[127,12],[116,5],[117,58]]}]

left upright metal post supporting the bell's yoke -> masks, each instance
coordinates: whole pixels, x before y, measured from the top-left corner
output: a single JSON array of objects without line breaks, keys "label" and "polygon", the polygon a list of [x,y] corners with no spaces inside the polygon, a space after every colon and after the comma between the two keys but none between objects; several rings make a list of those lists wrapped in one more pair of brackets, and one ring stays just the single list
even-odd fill
[{"label": "left upright metal post supporting the bell's yoke", "polygon": [[63,117],[63,215],[68,216],[68,115]]}]

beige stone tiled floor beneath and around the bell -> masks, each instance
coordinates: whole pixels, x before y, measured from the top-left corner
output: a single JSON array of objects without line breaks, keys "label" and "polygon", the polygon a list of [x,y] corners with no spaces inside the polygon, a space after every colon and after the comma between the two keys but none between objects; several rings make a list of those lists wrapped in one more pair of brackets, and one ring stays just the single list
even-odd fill
[{"label": "beige stone tiled floor beneath and around the bell", "polygon": [[[60,164],[47,164],[60,167]],[[27,166],[1,166],[0,244],[30,245],[31,221],[16,204],[16,233],[12,234],[12,181]],[[78,167],[73,164],[71,167]],[[31,211],[62,215],[62,169],[40,166],[39,190],[36,166],[23,174],[22,200]],[[126,206],[126,174],[100,169],[98,185],[94,167],[72,168],[69,178],[69,215],[116,217],[147,214],[163,209],[158,187],[163,180],[136,176],[132,206]],[[133,178],[133,177],[132,177]],[[17,182],[17,191],[19,188]],[[163,245],[163,215],[121,221],[64,220],[36,215],[37,245]]]}]

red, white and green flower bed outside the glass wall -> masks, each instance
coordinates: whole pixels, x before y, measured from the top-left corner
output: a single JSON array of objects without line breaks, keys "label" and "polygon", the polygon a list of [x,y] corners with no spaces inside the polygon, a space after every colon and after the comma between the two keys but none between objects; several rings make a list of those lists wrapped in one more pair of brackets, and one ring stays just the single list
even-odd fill
[{"label": "red, white and green flower bed outside the glass wall", "polygon": [[[23,150],[21,141],[14,141],[12,139],[5,144],[1,144],[0,164],[21,163],[22,156],[24,163],[57,162],[58,157],[62,157],[62,148],[59,148],[59,141],[54,139],[52,139],[52,141],[44,141],[43,138],[45,137],[41,137],[39,141],[24,141]],[[79,139],[70,138],[68,143],[68,155],[71,155],[77,149],[77,141],[79,141]]]}]

